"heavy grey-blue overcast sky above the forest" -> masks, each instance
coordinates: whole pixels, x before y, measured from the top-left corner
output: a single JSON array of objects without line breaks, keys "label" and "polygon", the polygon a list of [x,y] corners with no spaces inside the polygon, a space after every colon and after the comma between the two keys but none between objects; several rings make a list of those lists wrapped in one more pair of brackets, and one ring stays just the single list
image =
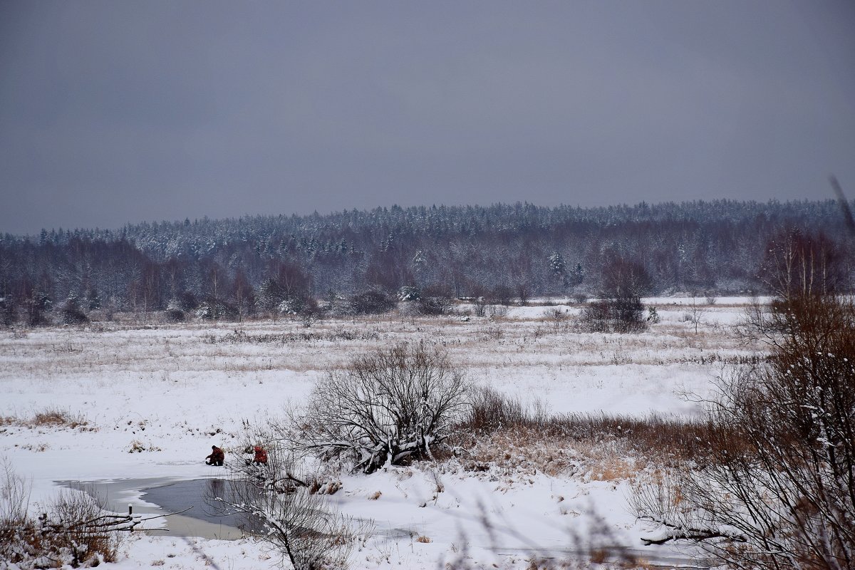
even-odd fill
[{"label": "heavy grey-blue overcast sky above the forest", "polygon": [[855,2],[0,0],[0,232],[855,197]]}]

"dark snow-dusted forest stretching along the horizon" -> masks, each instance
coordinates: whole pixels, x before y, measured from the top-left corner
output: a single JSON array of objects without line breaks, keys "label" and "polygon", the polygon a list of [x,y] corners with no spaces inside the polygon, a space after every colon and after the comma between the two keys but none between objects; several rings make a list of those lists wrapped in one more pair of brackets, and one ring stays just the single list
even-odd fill
[{"label": "dark snow-dusted forest stretching along the horizon", "polygon": [[828,282],[852,290],[855,236],[832,200],[392,206],[43,230],[0,237],[0,309],[6,326],[32,326],[92,312],[243,318],[357,297],[369,312],[422,295],[582,299],[615,263],[643,274],[645,294],[763,293],[769,250],[799,239],[820,244]]}]

